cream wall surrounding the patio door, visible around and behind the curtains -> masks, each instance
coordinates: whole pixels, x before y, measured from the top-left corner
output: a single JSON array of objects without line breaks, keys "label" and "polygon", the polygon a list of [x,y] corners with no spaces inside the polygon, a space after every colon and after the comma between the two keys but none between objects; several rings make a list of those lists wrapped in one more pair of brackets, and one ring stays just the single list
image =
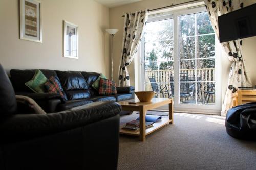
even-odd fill
[{"label": "cream wall surrounding the patio door, visible around and behind the curtains", "polygon": [[[115,35],[115,50],[114,50],[114,78],[115,81],[117,81],[118,77],[118,66],[120,62],[120,55],[121,55],[121,45],[122,45],[122,34],[123,34],[123,17],[121,17],[126,12],[134,12],[136,10],[140,9],[154,9],[159,8],[163,6],[168,6],[172,3],[178,4],[181,2],[187,2],[187,1],[169,1],[169,0],[144,0],[137,3],[124,5],[120,7],[115,7],[110,9],[110,27],[117,28],[120,31]],[[246,0],[245,6],[256,3],[256,0]],[[256,74],[255,72],[255,63],[256,63],[256,37],[246,38],[243,40],[243,56],[245,59],[245,63],[248,70],[248,75],[252,79],[253,85],[256,85]],[[226,93],[227,88],[227,79],[229,75],[229,69],[230,69],[230,61],[225,56],[225,53],[221,53],[221,75],[219,76],[222,80],[221,87],[222,87],[222,101],[224,100],[224,96]],[[134,62],[129,66],[130,71],[130,80],[131,85],[135,85],[135,79],[134,79]]]}]

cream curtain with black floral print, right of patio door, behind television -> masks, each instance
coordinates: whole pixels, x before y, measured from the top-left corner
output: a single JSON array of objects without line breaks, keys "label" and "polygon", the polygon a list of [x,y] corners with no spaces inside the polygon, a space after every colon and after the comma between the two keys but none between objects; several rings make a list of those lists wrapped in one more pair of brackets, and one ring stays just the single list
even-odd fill
[{"label": "cream curtain with black floral print, right of patio door, behind television", "polygon": [[[218,16],[243,8],[244,0],[204,0],[211,25],[219,38]],[[251,87],[251,81],[246,74],[245,63],[242,55],[242,40],[234,40],[221,43],[226,56],[232,62],[229,72],[227,91],[222,106],[221,114],[226,115],[232,104],[232,93],[237,92],[238,87]]]}]

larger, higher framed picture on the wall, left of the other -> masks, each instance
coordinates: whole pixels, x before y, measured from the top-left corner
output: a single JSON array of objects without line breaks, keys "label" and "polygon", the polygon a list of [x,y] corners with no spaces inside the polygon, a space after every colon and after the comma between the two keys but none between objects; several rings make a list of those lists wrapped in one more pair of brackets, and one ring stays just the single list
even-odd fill
[{"label": "larger, higher framed picture on the wall, left of the other", "polygon": [[20,39],[42,42],[41,2],[19,1]]}]

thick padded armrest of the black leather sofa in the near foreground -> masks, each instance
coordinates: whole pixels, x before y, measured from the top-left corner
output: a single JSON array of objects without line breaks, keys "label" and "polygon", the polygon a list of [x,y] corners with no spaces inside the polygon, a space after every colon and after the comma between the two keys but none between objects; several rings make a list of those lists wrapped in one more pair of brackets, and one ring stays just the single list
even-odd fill
[{"label": "thick padded armrest of the black leather sofa in the near foreground", "polygon": [[0,123],[1,143],[17,142],[55,134],[115,116],[121,106],[115,102],[94,102],[51,114],[15,114]]}]

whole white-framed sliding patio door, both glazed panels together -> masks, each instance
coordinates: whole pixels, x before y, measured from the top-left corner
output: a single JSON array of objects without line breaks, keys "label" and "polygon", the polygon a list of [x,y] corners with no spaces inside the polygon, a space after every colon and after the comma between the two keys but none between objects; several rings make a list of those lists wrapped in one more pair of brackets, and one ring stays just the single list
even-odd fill
[{"label": "whole white-framed sliding patio door, both glazed panels together", "polygon": [[218,40],[205,8],[150,17],[141,47],[142,89],[176,108],[220,110]]}]

